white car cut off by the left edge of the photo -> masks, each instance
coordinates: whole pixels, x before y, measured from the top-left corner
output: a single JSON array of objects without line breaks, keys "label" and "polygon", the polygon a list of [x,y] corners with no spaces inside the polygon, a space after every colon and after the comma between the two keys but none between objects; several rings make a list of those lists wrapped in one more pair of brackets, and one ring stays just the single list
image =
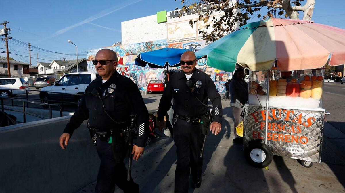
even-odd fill
[{"label": "white car cut off by the left edge of the photo", "polygon": [[[11,90],[16,89],[16,90]],[[0,96],[25,94],[29,87],[23,78],[0,78]]]}]

